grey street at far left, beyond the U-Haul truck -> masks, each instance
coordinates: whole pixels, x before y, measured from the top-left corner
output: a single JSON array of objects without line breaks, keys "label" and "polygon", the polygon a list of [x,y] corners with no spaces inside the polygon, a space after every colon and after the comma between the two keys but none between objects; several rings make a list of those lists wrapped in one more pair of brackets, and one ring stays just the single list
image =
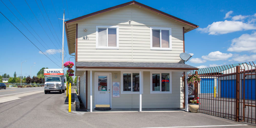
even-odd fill
[{"label": "grey street at far left, beyond the U-Haul truck", "polygon": [[[6,95],[15,95],[17,93],[24,93],[28,91],[43,90],[44,87],[33,87],[33,88],[6,88],[0,89],[0,98]],[[15,94],[13,94],[15,93]]]}]

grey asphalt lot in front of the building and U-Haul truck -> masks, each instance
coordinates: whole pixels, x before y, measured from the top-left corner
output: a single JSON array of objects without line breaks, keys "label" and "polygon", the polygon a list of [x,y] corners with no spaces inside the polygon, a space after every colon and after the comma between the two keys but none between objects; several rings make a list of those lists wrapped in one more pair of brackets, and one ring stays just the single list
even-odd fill
[{"label": "grey asphalt lot in front of the building and U-Haul truck", "polygon": [[41,92],[20,98],[0,103],[0,127],[171,127],[244,124],[207,114],[187,112],[68,113],[66,93],[58,92]]}]

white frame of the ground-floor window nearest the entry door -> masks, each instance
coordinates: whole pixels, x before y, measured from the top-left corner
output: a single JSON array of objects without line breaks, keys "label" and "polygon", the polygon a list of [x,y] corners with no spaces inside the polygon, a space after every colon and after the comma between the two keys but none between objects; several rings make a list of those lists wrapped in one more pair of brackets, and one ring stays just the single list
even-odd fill
[{"label": "white frame of the ground-floor window nearest the entry door", "polygon": [[[124,77],[124,73],[130,73],[131,74],[131,91],[124,91],[124,79],[123,79],[123,77]],[[140,94],[140,91],[138,91],[138,92],[132,92],[132,73],[140,73],[139,71],[121,71],[121,84],[120,84],[120,86],[121,86],[121,91],[120,91],[120,93],[121,94]],[[141,71],[141,94],[143,94],[143,71]]]}]

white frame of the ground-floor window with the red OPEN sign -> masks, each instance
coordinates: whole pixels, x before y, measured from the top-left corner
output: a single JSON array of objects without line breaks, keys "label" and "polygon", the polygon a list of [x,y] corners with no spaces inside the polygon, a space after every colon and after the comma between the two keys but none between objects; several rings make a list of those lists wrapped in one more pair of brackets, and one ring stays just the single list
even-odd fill
[{"label": "white frame of the ground-floor window with the red OPEN sign", "polygon": [[[170,79],[169,79],[169,87],[170,87],[170,91],[161,91],[162,90],[162,82],[161,82],[161,79],[162,79],[162,75],[161,73],[170,73]],[[152,91],[153,89],[153,80],[152,80],[152,74],[160,74],[160,91]],[[172,72],[150,72],[150,93],[152,94],[157,94],[157,93],[172,93]]]}]

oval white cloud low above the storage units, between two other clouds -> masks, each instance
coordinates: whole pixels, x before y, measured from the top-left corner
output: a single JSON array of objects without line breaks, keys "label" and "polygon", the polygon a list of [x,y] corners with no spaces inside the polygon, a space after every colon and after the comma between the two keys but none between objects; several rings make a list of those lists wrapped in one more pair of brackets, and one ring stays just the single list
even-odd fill
[{"label": "oval white cloud low above the storage units, between two other clouds", "polygon": [[205,60],[216,61],[216,60],[227,60],[232,56],[233,54],[231,53],[227,54],[227,53],[222,53],[220,51],[214,51],[214,52],[210,52],[206,56],[202,56],[202,58]]}]

